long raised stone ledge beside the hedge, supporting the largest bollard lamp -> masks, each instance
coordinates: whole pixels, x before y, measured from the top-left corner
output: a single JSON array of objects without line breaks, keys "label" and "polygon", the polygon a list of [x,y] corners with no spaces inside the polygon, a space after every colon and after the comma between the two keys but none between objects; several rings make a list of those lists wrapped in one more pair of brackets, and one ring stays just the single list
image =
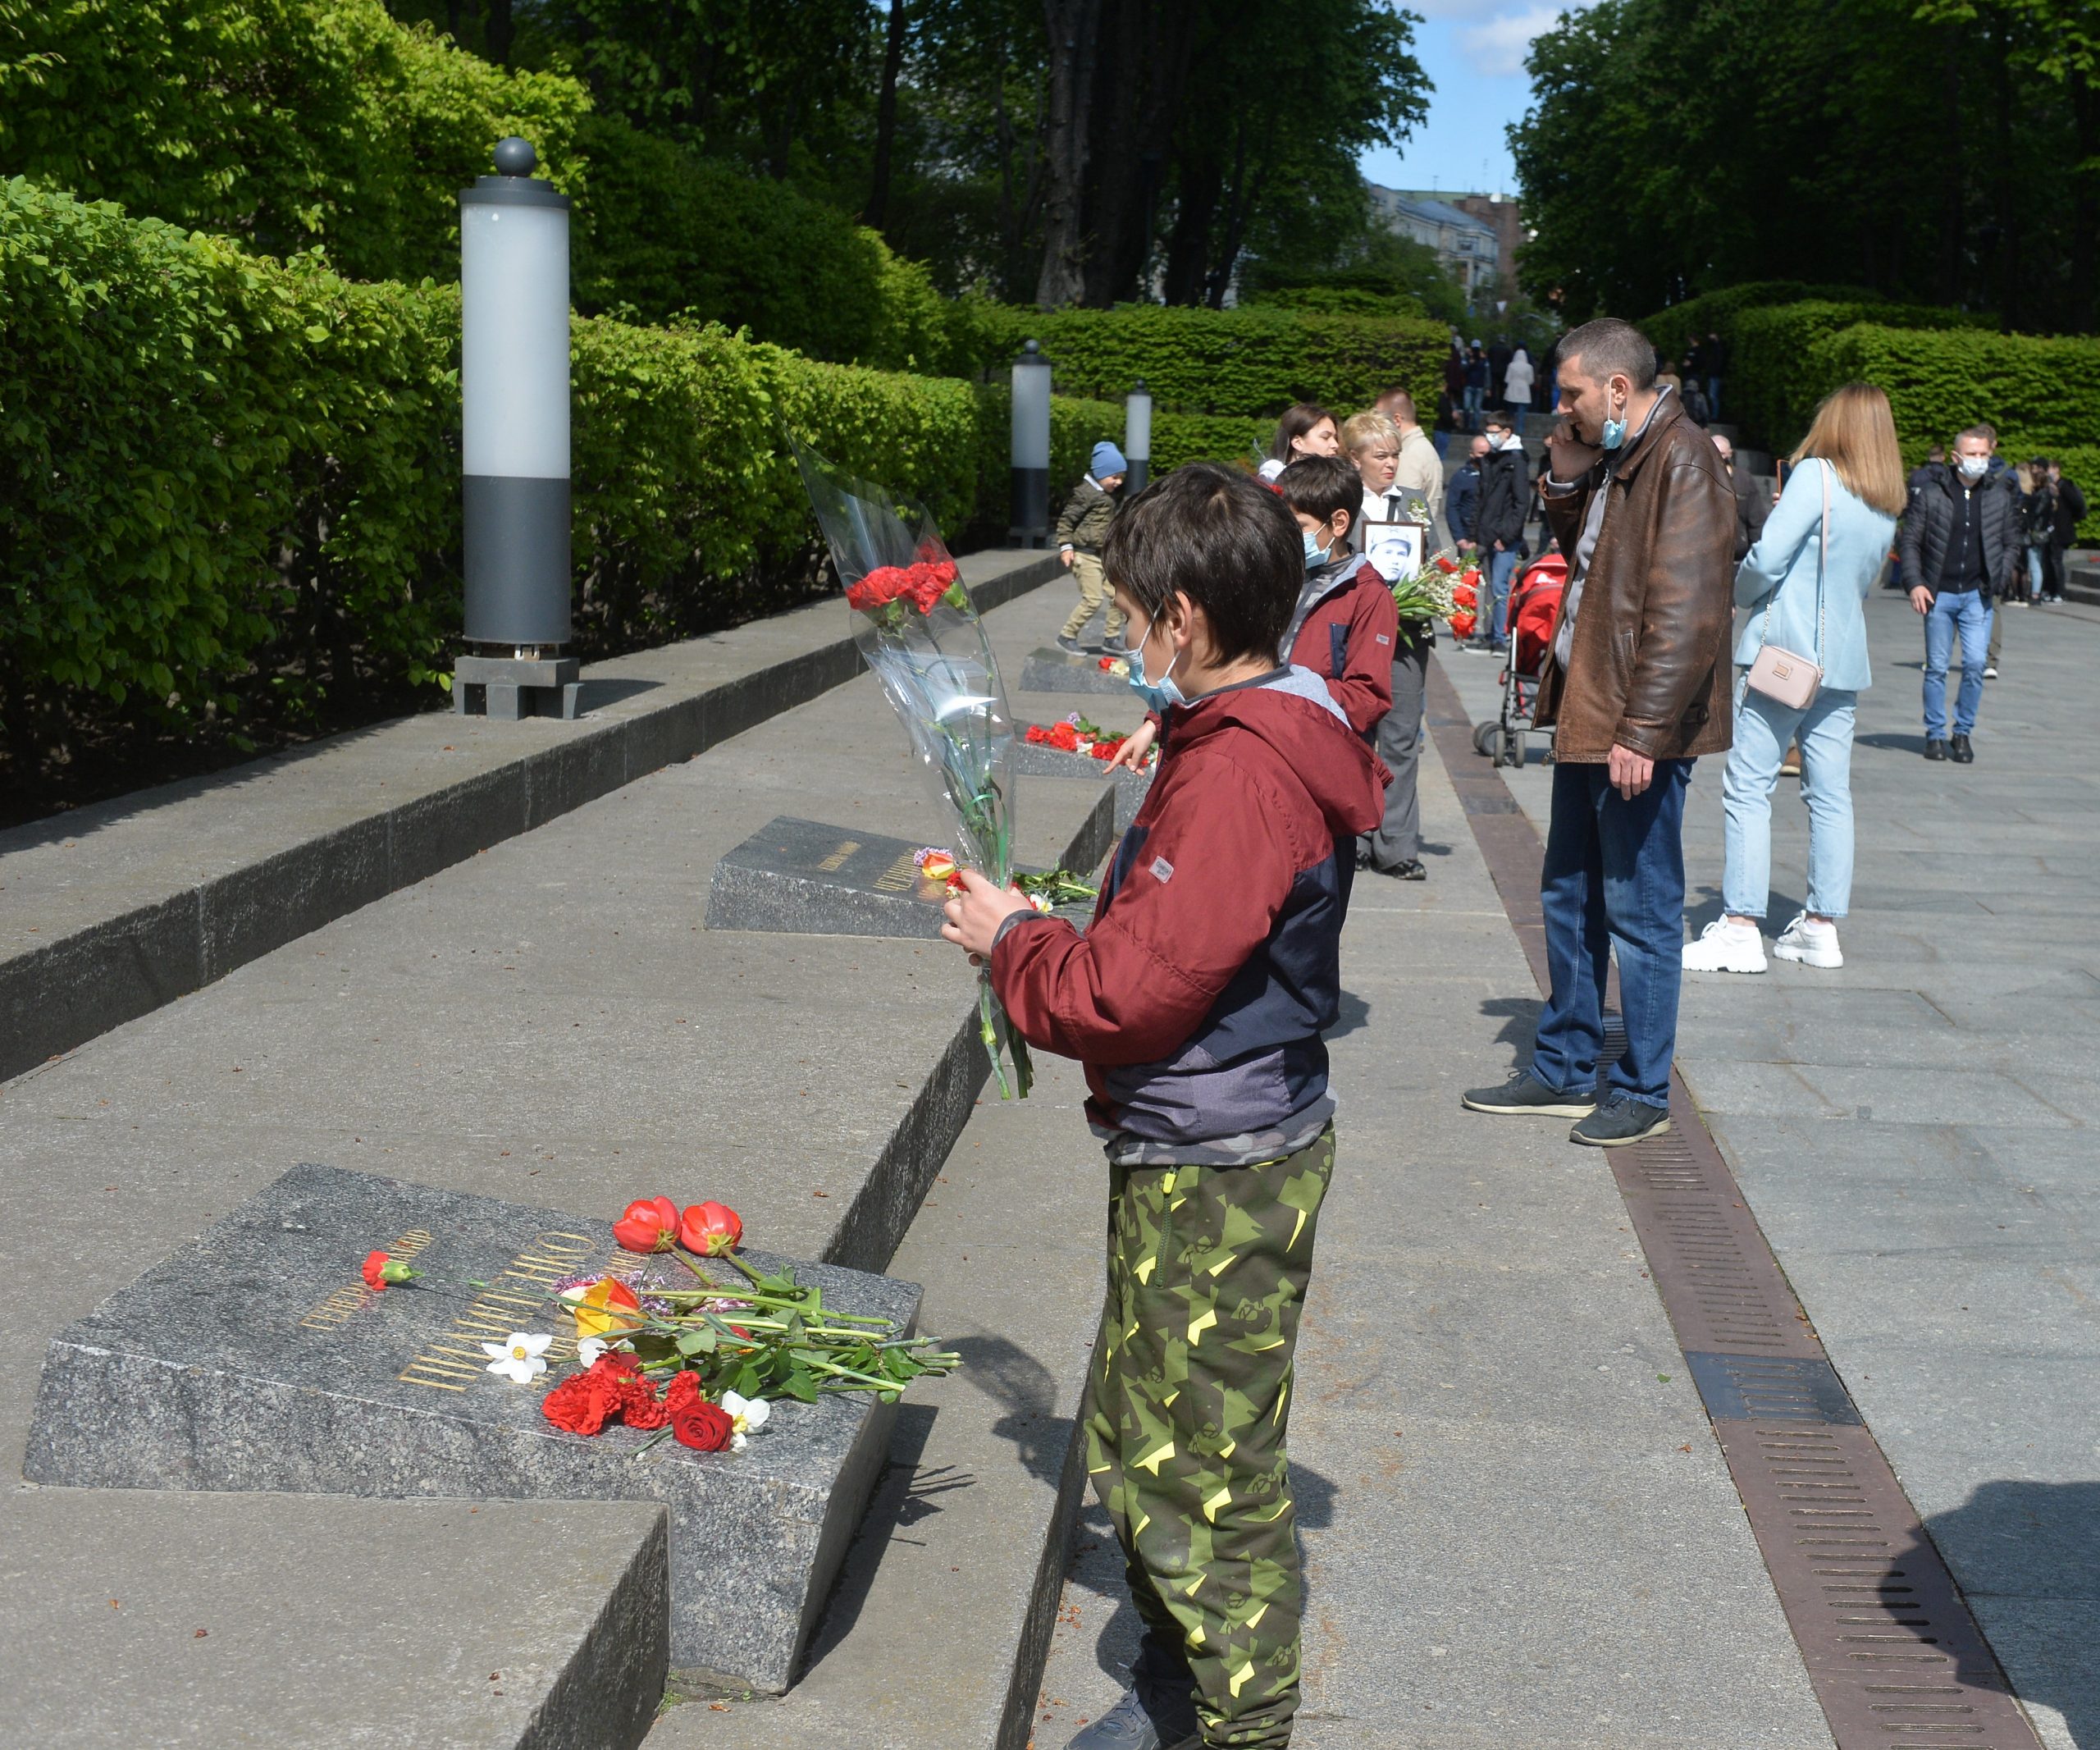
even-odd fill
[{"label": "long raised stone ledge beside the hedge, supporting the largest bollard lamp", "polygon": [[[1058,574],[960,563],[987,609]],[[0,1078],[859,670],[823,601],[592,664],[573,723],[424,712],[0,832]]]}]

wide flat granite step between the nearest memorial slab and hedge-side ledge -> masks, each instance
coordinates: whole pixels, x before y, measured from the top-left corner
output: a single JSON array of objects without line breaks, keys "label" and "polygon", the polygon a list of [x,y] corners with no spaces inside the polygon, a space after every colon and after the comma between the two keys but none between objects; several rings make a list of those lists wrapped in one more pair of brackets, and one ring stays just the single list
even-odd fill
[{"label": "wide flat granite step between the nearest memorial slab and hedge-side ledge", "polygon": [[[1063,611],[1025,597],[987,624],[1033,645]],[[1012,613],[1035,620],[1002,630]],[[1100,779],[1023,777],[1021,861],[1098,853],[1111,809]],[[15,1218],[0,1267],[36,1284],[0,1303],[8,1466],[52,1332],[300,1160],[598,1221],[643,1193],[720,1197],[754,1246],[888,1265],[985,1080],[974,979],[937,941],[706,931],[714,861],[783,813],[947,834],[861,676],[6,1084],[0,1195]],[[105,1515],[172,1523],[195,1498],[78,1500],[0,1584],[0,1639],[29,1634],[42,1576],[90,1550]],[[302,1550],[302,1502],[218,1500]],[[481,1561],[472,1540],[430,1548]],[[500,1555],[498,1571],[523,1561]],[[189,1584],[185,1597],[223,1595],[204,1567]],[[418,1658],[414,1639],[372,1653],[374,1693]],[[122,1695],[109,1708],[122,1721]],[[118,1725],[82,1742],[160,1739]]]}]

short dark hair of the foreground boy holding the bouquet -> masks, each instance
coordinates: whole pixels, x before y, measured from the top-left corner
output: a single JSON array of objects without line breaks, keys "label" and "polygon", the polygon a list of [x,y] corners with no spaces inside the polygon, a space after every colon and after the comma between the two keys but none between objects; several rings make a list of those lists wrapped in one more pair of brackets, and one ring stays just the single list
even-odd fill
[{"label": "short dark hair of the foreground boy holding the bouquet", "polygon": [[[1321,460],[1357,477],[1340,458]],[[1201,607],[1212,662],[1275,662],[1306,569],[1304,540],[1283,500],[1216,462],[1184,462],[1130,500],[1109,525],[1100,567],[1147,616],[1176,592]]]}]

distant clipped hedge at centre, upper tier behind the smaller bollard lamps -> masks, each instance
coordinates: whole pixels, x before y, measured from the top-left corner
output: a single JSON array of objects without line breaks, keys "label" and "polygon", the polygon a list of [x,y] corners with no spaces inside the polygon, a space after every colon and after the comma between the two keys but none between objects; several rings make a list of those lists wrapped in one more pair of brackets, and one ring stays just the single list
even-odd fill
[{"label": "distant clipped hedge at centre, upper tier behind the smaller bollard lamps", "polygon": [[1432,414],[1451,345],[1445,328],[1418,317],[1275,305],[1040,311],[958,300],[949,309],[947,370],[1004,378],[1025,340],[1042,342],[1063,395],[1119,403],[1142,376],[1163,410],[1268,420],[1292,401],[1352,414],[1394,384]]}]

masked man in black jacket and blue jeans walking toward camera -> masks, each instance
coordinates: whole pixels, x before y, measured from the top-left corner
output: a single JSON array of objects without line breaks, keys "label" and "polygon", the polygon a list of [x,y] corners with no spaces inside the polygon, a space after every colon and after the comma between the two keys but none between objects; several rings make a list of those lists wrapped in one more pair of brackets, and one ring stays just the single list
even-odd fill
[{"label": "masked man in black jacket and blue jeans walking toward camera", "polygon": [[[1926,622],[1926,758],[1976,758],[1970,731],[1982,704],[1984,651],[1991,643],[1991,597],[2012,584],[2020,565],[2018,511],[2012,494],[1987,479],[1991,433],[1970,426],[1955,439],[1951,466],[1940,466],[1911,494],[1903,513],[1903,576],[1911,607]],[[1961,639],[1961,693],[1953,737],[1947,733],[1947,662]]]}]

